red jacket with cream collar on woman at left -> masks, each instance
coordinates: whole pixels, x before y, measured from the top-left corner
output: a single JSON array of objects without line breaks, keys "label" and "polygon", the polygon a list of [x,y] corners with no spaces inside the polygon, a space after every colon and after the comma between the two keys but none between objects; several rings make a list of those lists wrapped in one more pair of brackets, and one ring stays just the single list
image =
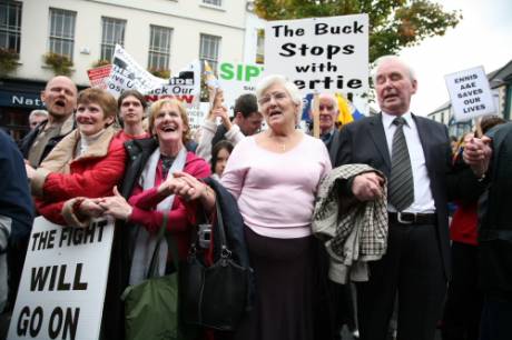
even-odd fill
[{"label": "red jacket with cream collar on woman at left", "polygon": [[[38,168],[42,176],[42,196],[36,198],[40,214],[58,224],[68,224],[62,217],[65,202],[77,198],[112,194],[125,172],[126,151],[114,128],[92,143],[87,153],[72,159],[79,140],[78,131],[66,137]],[[70,161],[68,163],[68,161]],[[69,164],[69,168],[68,168]],[[59,169],[58,171],[57,169]],[[35,186],[37,186],[36,180]]]}]

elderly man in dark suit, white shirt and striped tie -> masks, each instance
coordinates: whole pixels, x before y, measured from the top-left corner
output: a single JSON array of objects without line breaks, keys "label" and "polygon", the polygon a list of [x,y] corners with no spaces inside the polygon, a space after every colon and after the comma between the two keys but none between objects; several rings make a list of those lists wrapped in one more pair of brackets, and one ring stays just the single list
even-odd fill
[{"label": "elderly man in dark suit, white shirt and striped tie", "polygon": [[[374,83],[382,112],[342,129],[335,166],[365,163],[387,177],[387,252],[370,262],[370,281],[357,283],[361,338],[386,339],[395,298],[397,338],[434,338],[451,274],[446,204],[474,198],[484,183],[470,171],[453,173],[447,129],[410,111],[417,90],[413,70],[394,56],[376,62]],[[358,200],[382,194],[374,172],[346,182]]]}]

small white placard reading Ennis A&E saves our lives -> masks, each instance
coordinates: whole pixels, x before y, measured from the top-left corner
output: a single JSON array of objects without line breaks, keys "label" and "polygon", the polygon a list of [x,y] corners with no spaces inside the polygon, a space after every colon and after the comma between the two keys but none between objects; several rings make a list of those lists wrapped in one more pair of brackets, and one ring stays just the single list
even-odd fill
[{"label": "small white placard reading Ennis A&E saves our lives", "polygon": [[495,113],[494,100],[483,67],[444,76],[456,121]]}]

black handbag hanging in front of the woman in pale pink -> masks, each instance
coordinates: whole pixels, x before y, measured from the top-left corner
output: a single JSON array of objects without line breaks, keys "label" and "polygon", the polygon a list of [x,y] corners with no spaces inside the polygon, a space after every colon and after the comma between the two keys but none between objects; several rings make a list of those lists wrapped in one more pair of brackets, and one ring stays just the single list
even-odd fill
[{"label": "black handbag hanging in front of the woman in pale pink", "polygon": [[252,269],[235,262],[218,202],[216,210],[214,238],[219,240],[219,256],[207,267],[195,237],[189,256],[179,268],[179,308],[185,323],[230,331],[246,312]]}]

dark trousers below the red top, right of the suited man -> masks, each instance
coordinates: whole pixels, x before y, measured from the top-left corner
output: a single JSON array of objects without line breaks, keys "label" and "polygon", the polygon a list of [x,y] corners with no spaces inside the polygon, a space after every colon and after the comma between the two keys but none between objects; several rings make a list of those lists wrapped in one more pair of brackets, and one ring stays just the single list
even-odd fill
[{"label": "dark trousers below the red top, right of the suited man", "polygon": [[483,294],[479,289],[479,247],[452,243],[452,281],[443,316],[443,340],[476,340]]}]

